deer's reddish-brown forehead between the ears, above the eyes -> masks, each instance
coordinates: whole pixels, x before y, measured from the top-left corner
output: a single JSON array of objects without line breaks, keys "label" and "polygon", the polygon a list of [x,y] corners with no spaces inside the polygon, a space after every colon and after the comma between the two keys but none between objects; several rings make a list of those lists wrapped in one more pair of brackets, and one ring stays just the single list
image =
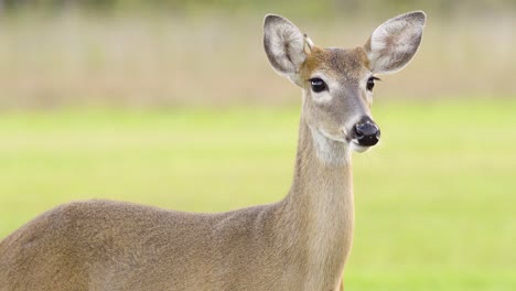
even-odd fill
[{"label": "deer's reddish-brown forehead between the ears, above the eyes", "polygon": [[300,75],[307,80],[318,72],[338,80],[354,80],[364,78],[369,73],[369,61],[363,47],[321,48],[312,47],[304,61]]}]

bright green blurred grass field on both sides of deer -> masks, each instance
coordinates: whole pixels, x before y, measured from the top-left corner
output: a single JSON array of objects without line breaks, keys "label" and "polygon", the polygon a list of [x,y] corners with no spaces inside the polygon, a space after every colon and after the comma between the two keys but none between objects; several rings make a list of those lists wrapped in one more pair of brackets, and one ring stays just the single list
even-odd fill
[{"label": "bright green blurred grass field on both sides of deer", "polygon": [[[516,103],[375,105],[354,154],[348,290],[516,290]],[[280,200],[298,109],[11,112],[0,119],[0,237],[73,200],[193,212]]]}]

